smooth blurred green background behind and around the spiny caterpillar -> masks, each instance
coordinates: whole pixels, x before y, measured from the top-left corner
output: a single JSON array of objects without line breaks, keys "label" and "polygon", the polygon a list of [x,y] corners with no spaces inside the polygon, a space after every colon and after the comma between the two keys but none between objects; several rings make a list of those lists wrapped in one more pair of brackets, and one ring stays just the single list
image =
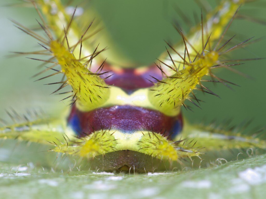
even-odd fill
[{"label": "smooth blurred green background behind and around the spiny caterpillar", "polygon": [[[66,107],[64,102],[59,102],[62,96],[49,94],[56,86],[43,85],[58,80],[57,78],[46,79],[34,82],[36,79],[30,77],[40,71],[38,62],[20,56],[7,58],[9,51],[32,51],[40,49],[37,42],[16,29],[8,18],[18,20],[28,27],[37,27],[35,18],[38,18],[33,8],[5,7],[8,3],[17,1],[1,1],[0,7],[0,116],[6,117],[5,109],[14,107],[22,112],[25,108],[43,107],[47,113],[60,113]],[[214,1],[209,1],[215,5]],[[243,6],[240,13],[254,15],[257,18],[265,19],[265,2],[258,1]],[[78,1],[75,2],[79,5]],[[109,33],[111,41],[108,45],[110,50],[117,52],[118,59],[128,59],[140,66],[152,63],[165,51],[165,42],[180,41],[180,36],[174,30],[172,23],[179,21],[181,27],[188,31],[189,25],[180,19],[175,11],[178,6],[185,15],[194,21],[193,13],[199,18],[200,8],[193,0],[189,1],[90,1],[89,7],[99,13],[97,20],[105,24],[105,31]],[[235,20],[228,32],[228,37],[237,33],[235,42],[243,41],[246,38],[265,36],[266,26],[246,20]],[[232,54],[234,58],[257,58],[265,56],[266,39],[253,45],[239,49]],[[108,59],[108,58],[107,58]],[[118,60],[119,61],[119,60]],[[232,118],[235,124],[245,119],[254,118],[252,126],[263,126],[265,124],[265,63],[266,60],[249,61],[246,64],[235,67],[239,71],[254,77],[254,80],[247,79],[228,70],[217,70],[219,76],[232,81],[241,87],[233,86],[230,90],[222,84],[213,86],[206,83],[221,99],[208,94],[198,97],[205,101],[202,103],[202,110],[193,107],[193,112],[184,110],[186,118],[191,122],[201,122],[203,119]],[[189,103],[189,102],[187,102]]]}]

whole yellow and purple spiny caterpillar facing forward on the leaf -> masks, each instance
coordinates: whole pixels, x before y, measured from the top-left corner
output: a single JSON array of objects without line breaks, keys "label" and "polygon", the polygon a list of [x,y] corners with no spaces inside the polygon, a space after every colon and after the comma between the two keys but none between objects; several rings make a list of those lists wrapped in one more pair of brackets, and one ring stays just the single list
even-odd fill
[{"label": "whole yellow and purple spiny caterpillar facing forward on the leaf", "polygon": [[[41,20],[37,22],[45,36],[13,20],[42,47],[17,53],[49,55],[48,59],[31,58],[51,64],[42,65],[46,68],[36,76],[50,70],[54,73],[38,80],[63,74],[63,79],[49,84],[59,84],[53,93],[69,94],[62,100],[71,102],[68,115],[59,119],[32,121],[15,110],[7,112],[15,123],[8,125],[3,120],[0,138],[52,144],[49,151],[78,157],[87,169],[138,172],[182,169],[187,160],[198,165],[204,160],[205,165],[211,165],[206,153],[213,151],[265,149],[261,132],[246,135],[234,129],[192,126],[183,121],[181,113],[182,106],[191,110],[188,103],[200,107],[197,90],[218,96],[202,82],[234,85],[214,74],[216,68],[235,71],[232,66],[258,59],[228,59],[228,53],[254,41],[248,38],[231,45],[234,36],[225,39],[240,7],[252,1],[220,1],[206,17],[201,14],[189,34],[176,27],[181,42],[166,42],[166,52],[142,68],[131,63],[118,68],[103,57],[110,49],[92,44],[99,32],[93,28],[95,21],[82,30],[76,9],[69,15],[59,0],[23,1],[38,12]],[[85,16],[80,20],[86,20]],[[203,79],[206,76],[211,79]],[[60,91],[67,87],[70,91]]]}]

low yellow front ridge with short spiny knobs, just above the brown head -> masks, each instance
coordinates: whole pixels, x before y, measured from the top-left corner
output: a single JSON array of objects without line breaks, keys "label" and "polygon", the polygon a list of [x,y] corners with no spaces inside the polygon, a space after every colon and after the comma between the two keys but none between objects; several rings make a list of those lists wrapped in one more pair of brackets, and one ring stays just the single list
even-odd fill
[{"label": "low yellow front ridge with short spiny knobs, just above the brown head", "polygon": [[199,156],[201,153],[192,146],[172,142],[160,134],[148,131],[124,134],[119,131],[102,130],[86,137],[57,145],[50,151],[94,158],[98,155],[131,150],[162,160],[178,161],[180,158]]}]

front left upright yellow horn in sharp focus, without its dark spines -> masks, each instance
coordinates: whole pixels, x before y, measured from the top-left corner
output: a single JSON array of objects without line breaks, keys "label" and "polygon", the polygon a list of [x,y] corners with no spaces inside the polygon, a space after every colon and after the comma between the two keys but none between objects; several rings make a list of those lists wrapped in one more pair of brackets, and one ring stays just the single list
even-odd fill
[{"label": "front left upright yellow horn in sharp focus, without its dark spines", "polygon": [[80,110],[93,110],[107,101],[110,90],[99,74],[89,71],[58,41],[51,41],[50,48],[67,77],[66,84],[72,86]]}]

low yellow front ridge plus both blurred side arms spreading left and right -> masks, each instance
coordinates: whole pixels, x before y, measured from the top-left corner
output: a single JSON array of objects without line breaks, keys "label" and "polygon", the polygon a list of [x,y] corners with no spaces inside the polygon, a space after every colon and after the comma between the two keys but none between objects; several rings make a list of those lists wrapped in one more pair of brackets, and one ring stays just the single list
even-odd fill
[{"label": "low yellow front ridge plus both blurred side arms spreading left and right", "polygon": [[[263,132],[258,131],[247,136],[238,131],[186,125],[182,134],[174,138],[176,141],[149,131],[125,134],[110,129],[102,129],[85,137],[76,137],[65,124],[59,125],[58,121],[54,121],[49,124],[32,122],[31,126],[21,123],[2,127],[0,139],[18,139],[48,144],[54,147],[49,150],[51,152],[88,158],[90,161],[102,155],[106,158],[110,155],[115,157],[117,153],[130,150],[161,161],[181,163],[180,160],[183,158],[202,157],[204,153],[221,149],[266,149],[265,139],[259,136],[261,133]],[[126,161],[126,157],[122,159]],[[142,172],[143,168],[136,167],[136,170]],[[148,170],[148,166],[145,170]]]}]

